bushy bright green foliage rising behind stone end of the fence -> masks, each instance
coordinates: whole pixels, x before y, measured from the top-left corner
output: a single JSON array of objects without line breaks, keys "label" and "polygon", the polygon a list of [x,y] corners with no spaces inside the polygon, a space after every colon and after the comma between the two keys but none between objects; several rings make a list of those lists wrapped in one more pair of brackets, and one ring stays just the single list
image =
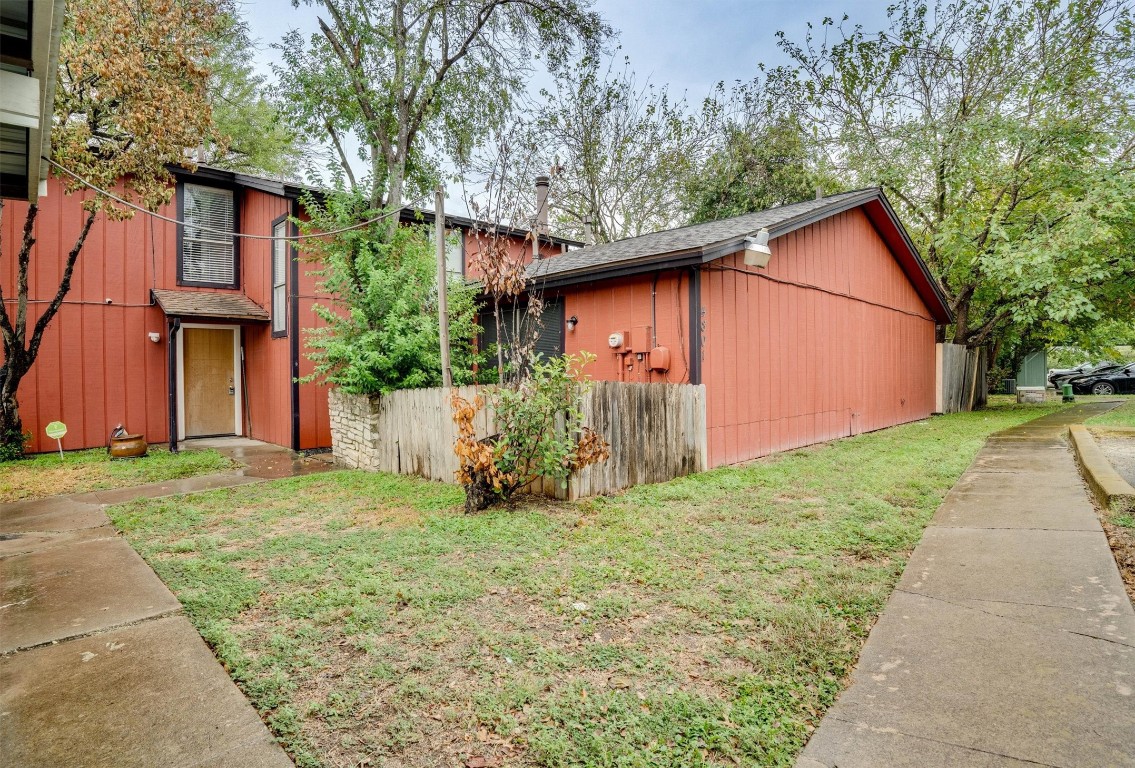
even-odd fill
[{"label": "bushy bright green foliage rising behind stone end of the fence", "polygon": [[[333,194],[308,202],[304,231],[328,231],[344,222],[373,218],[356,195]],[[319,264],[322,289],[336,297],[317,305],[326,323],[308,337],[322,380],[358,395],[442,383],[437,317],[437,258],[430,229],[378,223],[308,242]],[[477,290],[460,280],[448,288],[451,364],[454,383],[472,380]]]}]

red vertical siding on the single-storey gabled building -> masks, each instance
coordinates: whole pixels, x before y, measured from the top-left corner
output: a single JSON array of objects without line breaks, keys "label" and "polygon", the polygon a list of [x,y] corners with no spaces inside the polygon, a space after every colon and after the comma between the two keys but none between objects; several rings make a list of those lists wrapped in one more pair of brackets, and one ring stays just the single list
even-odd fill
[{"label": "red vertical siding on the single-storey gabled building", "polygon": [[[700,273],[701,381],[711,466],[928,416],[934,407],[935,322],[861,209],[774,239],[765,277],[741,254]],[[568,352],[598,355],[592,378],[617,380],[607,335],[650,324],[650,275],[565,288]],[[657,343],[665,379],[687,381],[688,270],[662,272]]]}]

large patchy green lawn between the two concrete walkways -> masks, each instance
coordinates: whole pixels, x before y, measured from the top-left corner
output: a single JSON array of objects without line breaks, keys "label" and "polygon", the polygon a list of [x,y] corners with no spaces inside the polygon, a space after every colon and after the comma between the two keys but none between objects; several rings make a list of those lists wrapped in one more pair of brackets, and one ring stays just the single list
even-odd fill
[{"label": "large patchy green lawn between the two concrete walkways", "polygon": [[1058,407],[477,516],[362,472],[110,514],[302,767],[790,766],[985,437]]}]

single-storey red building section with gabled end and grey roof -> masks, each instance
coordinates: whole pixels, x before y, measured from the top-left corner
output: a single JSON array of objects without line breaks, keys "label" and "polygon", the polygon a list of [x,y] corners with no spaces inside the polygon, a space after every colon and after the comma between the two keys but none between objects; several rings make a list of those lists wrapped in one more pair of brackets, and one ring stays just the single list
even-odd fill
[{"label": "single-storey red building section with gabled end and grey roof", "polygon": [[[767,230],[766,267],[746,264]],[[595,379],[706,386],[709,465],[928,416],[950,311],[878,189],[570,251],[529,265],[543,347]]]}]

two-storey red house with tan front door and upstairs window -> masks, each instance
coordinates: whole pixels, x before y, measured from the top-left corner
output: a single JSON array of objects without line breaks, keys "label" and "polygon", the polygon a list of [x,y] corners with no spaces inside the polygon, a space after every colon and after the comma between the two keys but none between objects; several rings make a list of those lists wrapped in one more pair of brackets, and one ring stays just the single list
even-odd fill
[{"label": "two-storey red house with tan front door and upstairs window", "polygon": [[[68,427],[65,448],[106,445],[119,423],[150,442],[236,434],[297,450],[330,446],[326,388],[296,381],[312,371],[304,346],[306,329],[320,324],[312,306],[329,297],[293,243],[271,239],[294,234],[288,220],[302,216],[303,189],[203,167],[176,176],[174,200],[159,213],[185,226],[100,217],[89,235],[70,294],[20,383],[30,450],[54,448],[43,428],[56,420]],[[59,285],[92,194],[66,195],[49,180],[35,223],[30,324]],[[5,243],[18,242],[24,205],[6,204]],[[432,221],[410,210],[403,218]],[[464,272],[473,222],[447,217],[446,225],[460,233],[451,269]],[[523,246],[527,231],[507,234]],[[569,243],[541,238],[541,253]],[[14,302],[15,260],[3,262],[5,301]]]}]

